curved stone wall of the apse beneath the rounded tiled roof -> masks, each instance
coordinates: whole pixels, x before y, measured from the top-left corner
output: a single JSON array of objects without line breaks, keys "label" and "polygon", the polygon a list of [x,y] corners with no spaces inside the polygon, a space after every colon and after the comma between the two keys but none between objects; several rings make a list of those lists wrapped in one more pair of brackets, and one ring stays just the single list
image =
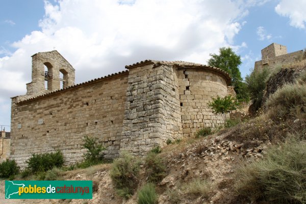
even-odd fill
[{"label": "curved stone wall of the apse beneath the rounded tiled roof", "polygon": [[213,97],[227,95],[224,77],[215,71],[199,68],[177,69],[182,110],[183,136],[192,137],[202,127],[223,123],[208,107]]}]

